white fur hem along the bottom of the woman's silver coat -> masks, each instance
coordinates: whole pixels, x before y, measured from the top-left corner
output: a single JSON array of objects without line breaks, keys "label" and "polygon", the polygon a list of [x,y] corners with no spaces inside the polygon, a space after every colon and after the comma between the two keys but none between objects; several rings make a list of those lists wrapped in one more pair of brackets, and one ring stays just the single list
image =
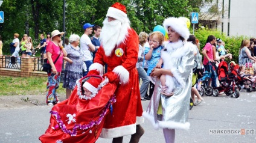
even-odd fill
[{"label": "white fur hem along the bottom of the woman's silver coat", "polygon": [[189,130],[190,123],[179,123],[175,121],[159,121],[159,127],[162,129],[182,129],[182,130]]}]

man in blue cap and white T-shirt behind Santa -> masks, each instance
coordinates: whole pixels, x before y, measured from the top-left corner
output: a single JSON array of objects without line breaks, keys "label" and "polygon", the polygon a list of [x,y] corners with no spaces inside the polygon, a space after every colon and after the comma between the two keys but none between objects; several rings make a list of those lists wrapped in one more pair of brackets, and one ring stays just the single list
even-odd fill
[{"label": "man in blue cap and white T-shirt behind Santa", "polygon": [[95,51],[95,46],[92,44],[92,41],[89,38],[89,35],[92,34],[93,26],[94,25],[91,25],[90,23],[85,23],[85,25],[83,25],[83,29],[85,30],[85,33],[80,38],[80,47],[83,53],[83,61],[85,62],[87,67],[87,71],[83,72],[83,76],[86,76],[88,73],[88,69],[92,64],[91,52]]}]

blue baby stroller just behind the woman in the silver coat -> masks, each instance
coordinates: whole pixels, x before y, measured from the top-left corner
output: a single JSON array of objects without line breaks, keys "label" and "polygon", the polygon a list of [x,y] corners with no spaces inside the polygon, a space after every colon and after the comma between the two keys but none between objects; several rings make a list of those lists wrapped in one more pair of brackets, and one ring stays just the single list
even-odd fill
[{"label": "blue baby stroller just behind the woman in the silver coat", "polygon": [[198,79],[197,90],[201,96],[205,94],[206,96],[213,95],[213,87],[208,86],[208,82],[211,81],[211,78],[216,78],[216,65],[215,62],[208,62],[206,67],[204,67],[203,77]]}]

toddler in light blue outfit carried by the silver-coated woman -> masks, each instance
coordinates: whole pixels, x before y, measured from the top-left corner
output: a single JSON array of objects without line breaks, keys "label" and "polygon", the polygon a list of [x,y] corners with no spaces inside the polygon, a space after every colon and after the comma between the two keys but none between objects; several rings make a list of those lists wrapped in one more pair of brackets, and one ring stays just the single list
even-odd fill
[{"label": "toddler in light blue outfit carried by the silver-coated woman", "polygon": [[[155,31],[149,35],[149,46],[145,47],[144,55],[145,59],[147,60],[147,76],[150,76],[151,71],[153,68],[156,67],[156,64],[159,62],[161,58],[161,50],[164,48],[162,43],[164,42],[164,35],[159,32]],[[155,83],[155,80],[150,77],[150,80]]]}]

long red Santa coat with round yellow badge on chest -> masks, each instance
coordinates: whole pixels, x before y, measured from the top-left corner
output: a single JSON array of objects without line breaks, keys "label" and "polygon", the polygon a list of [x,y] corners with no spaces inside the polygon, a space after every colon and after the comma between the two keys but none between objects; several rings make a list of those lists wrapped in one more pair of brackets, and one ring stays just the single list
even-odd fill
[{"label": "long red Santa coat with round yellow badge on chest", "polygon": [[[107,64],[107,72],[113,71],[118,65],[123,66],[129,72],[129,75],[126,75],[129,76],[129,81],[126,84],[117,85],[115,91],[117,102],[113,105],[113,114],[106,116],[101,138],[132,135],[136,132],[136,124],[144,122],[138,71],[136,70],[139,50],[138,34],[132,28],[128,29],[128,33],[126,40],[115,46],[110,56],[106,56],[103,47],[100,46],[94,59],[94,64],[96,62],[101,65]],[[94,68],[90,67],[90,70],[94,70]],[[123,73],[116,74],[122,75]]]}]

